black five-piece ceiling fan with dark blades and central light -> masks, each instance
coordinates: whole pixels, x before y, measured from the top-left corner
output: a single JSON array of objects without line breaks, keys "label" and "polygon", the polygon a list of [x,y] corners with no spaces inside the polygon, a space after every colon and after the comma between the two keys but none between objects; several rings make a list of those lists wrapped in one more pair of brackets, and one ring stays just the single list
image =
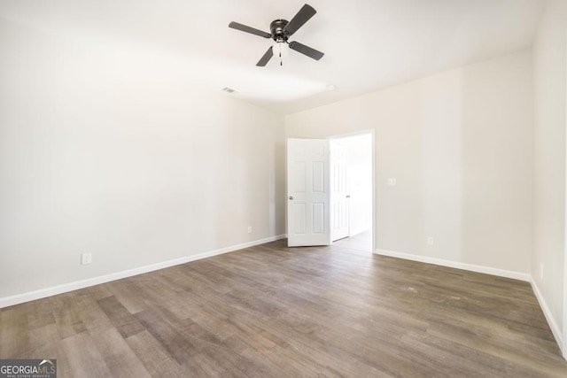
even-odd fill
[{"label": "black five-piece ceiling fan with dark blades and central light", "polygon": [[256,63],[256,66],[266,66],[269,59],[274,56],[274,53],[280,58],[280,65],[282,65],[282,58],[285,58],[289,49],[296,50],[303,55],[307,55],[309,58],[314,58],[319,60],[324,55],[321,51],[306,46],[303,43],[297,41],[288,42],[288,38],[298,31],[299,27],[302,27],[309,19],[315,15],[315,9],[309,5],[305,4],[299,10],[299,12],[293,16],[291,21],[285,19],[275,19],[269,26],[271,33],[263,32],[261,30],[255,29],[253,27],[247,27],[245,25],[239,24],[238,22],[230,22],[229,27],[237,29],[252,35],[260,35],[260,37],[271,38],[276,41],[274,46],[270,46],[268,51],[264,54],[262,58]]}]

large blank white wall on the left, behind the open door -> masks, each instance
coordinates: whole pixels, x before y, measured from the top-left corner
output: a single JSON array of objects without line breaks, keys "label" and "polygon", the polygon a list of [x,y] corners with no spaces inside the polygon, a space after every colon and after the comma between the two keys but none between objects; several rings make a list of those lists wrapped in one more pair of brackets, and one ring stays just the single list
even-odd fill
[{"label": "large blank white wall on the left, behind the open door", "polygon": [[284,233],[281,117],[163,53],[4,19],[0,51],[0,299]]}]

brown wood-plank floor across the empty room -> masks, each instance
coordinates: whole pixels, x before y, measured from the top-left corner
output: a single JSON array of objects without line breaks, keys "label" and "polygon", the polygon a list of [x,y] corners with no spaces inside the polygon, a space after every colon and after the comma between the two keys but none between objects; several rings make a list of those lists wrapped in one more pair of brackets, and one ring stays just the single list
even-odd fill
[{"label": "brown wood-plank floor across the empty room", "polygon": [[58,377],[567,376],[526,282],[285,240],[0,312]]}]

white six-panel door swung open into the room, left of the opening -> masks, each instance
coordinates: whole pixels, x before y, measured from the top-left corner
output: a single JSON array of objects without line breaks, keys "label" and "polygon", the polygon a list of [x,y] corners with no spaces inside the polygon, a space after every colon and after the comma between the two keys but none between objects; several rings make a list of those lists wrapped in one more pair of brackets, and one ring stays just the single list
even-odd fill
[{"label": "white six-panel door swung open into the room, left of the opening", "polygon": [[287,243],[330,244],[329,141],[287,140]]}]

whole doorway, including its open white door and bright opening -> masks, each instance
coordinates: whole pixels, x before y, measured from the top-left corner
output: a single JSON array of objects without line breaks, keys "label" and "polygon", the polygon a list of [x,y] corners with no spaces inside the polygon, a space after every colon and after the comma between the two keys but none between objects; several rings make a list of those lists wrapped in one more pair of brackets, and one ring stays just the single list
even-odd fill
[{"label": "whole doorway, including its open white door and bright opening", "polygon": [[360,251],[374,251],[374,160],[374,130],[288,138],[288,246],[330,245],[340,239],[341,246],[356,243]]}]

